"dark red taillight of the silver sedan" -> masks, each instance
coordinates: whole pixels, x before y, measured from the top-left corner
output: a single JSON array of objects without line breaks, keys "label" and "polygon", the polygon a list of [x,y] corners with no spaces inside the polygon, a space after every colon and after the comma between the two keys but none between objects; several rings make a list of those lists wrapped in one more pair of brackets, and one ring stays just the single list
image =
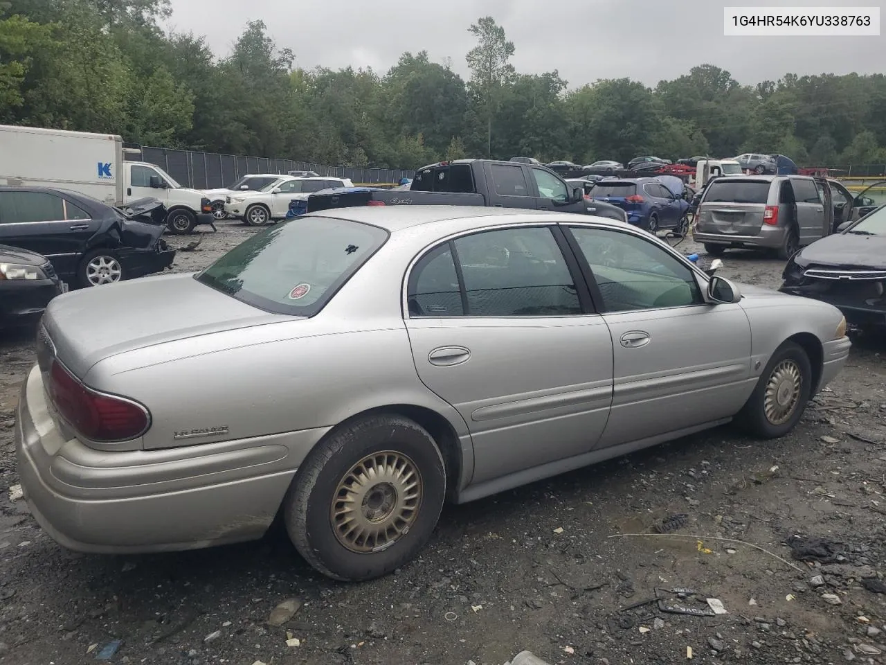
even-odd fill
[{"label": "dark red taillight of the silver sedan", "polygon": [[50,396],[61,416],[90,441],[129,441],[144,434],[151,425],[151,416],[144,406],[97,393],[55,361],[50,370]]}]

